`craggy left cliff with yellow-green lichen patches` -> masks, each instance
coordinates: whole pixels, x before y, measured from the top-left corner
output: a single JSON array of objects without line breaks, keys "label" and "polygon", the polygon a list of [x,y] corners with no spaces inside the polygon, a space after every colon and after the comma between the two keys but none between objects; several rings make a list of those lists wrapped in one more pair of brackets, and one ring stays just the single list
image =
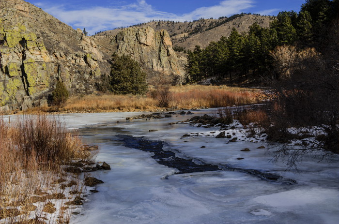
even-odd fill
[{"label": "craggy left cliff with yellow-green lichen patches", "polygon": [[23,0],[0,1],[0,110],[45,105],[56,79],[91,93],[102,57],[81,30]]}]

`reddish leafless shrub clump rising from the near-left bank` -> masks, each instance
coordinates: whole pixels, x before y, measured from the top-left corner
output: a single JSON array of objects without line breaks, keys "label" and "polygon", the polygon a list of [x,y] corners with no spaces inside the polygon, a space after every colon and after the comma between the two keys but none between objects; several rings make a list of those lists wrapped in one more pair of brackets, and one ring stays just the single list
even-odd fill
[{"label": "reddish leafless shrub clump rising from the near-left bank", "polygon": [[71,136],[58,119],[47,115],[24,115],[18,119],[13,140],[23,156],[35,156],[35,160],[62,163],[74,158],[81,148],[76,136]]}]

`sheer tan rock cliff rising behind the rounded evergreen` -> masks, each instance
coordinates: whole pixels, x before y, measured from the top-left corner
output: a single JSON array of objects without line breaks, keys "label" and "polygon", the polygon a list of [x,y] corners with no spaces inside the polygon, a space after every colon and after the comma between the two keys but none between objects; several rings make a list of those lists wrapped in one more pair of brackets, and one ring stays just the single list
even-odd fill
[{"label": "sheer tan rock cliff rising behind the rounded evergreen", "polygon": [[143,66],[167,75],[185,75],[185,60],[177,57],[166,30],[155,31],[150,27],[123,29],[116,35],[115,45],[118,54],[131,55]]}]

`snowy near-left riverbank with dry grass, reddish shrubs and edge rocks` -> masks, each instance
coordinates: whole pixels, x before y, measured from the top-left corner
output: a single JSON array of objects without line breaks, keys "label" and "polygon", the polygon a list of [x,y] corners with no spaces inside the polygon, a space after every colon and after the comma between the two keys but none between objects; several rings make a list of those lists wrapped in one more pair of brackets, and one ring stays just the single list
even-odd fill
[{"label": "snowy near-left riverbank with dry grass, reddish shrubs and edge rocks", "polygon": [[92,166],[97,150],[56,118],[0,117],[0,224],[69,223],[108,168]]}]

